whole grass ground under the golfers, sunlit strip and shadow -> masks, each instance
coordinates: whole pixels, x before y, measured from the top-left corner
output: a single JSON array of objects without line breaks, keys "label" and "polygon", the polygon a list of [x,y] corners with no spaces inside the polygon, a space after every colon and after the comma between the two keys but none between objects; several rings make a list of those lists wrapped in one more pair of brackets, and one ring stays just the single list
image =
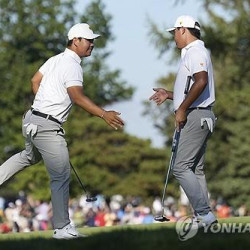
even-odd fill
[{"label": "whole grass ground under the golfers, sunlit strip and shadow", "polygon": [[[102,228],[81,228],[89,235],[74,240],[54,240],[52,231],[32,233],[11,233],[0,235],[0,250],[162,250],[162,249],[249,249],[250,217],[233,217],[220,220],[220,224],[235,223],[245,233],[207,232],[202,229],[191,239],[180,241],[175,223],[155,223],[150,225],[114,226]],[[248,225],[249,223],[249,225]],[[237,231],[238,230],[238,231]]]}]

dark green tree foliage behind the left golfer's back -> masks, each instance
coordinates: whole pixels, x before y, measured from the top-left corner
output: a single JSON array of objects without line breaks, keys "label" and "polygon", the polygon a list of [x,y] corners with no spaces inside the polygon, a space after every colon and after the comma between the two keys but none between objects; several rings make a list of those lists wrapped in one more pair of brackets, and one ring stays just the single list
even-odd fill
[{"label": "dark green tree foliage behind the left golfer's back", "polygon": [[72,23],[75,15],[73,3],[0,1],[2,160],[23,147],[21,116],[33,99],[30,79],[46,59],[64,49],[65,24]]}]

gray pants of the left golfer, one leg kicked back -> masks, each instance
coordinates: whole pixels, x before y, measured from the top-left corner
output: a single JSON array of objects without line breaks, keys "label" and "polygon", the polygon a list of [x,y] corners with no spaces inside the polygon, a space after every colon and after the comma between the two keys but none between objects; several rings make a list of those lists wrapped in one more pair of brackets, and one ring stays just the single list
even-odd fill
[{"label": "gray pants of the left golfer, one leg kicked back", "polygon": [[70,223],[68,213],[70,163],[64,131],[56,122],[28,111],[23,118],[25,149],[0,166],[0,185],[25,167],[44,160],[50,176],[53,227]]}]

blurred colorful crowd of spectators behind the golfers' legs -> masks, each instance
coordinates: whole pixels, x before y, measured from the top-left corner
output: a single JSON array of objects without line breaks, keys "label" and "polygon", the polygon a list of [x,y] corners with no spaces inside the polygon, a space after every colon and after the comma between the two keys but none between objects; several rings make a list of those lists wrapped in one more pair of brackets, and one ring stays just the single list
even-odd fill
[{"label": "blurred colorful crowd of spectators behind the golfers' legs", "polygon": [[[218,218],[247,216],[245,205],[238,209],[228,206],[223,199],[211,200],[211,207]],[[139,197],[114,195],[107,199],[97,196],[97,201],[86,202],[86,197],[70,200],[69,214],[71,223],[76,227],[102,227],[124,224],[157,223],[154,216],[162,214],[161,198],[156,197],[152,206],[143,205]],[[187,197],[182,192],[180,199],[168,196],[164,201],[164,215],[170,221],[192,214]],[[0,233],[30,232],[52,229],[51,204],[43,200],[34,200],[20,192],[14,200],[0,197]]]}]

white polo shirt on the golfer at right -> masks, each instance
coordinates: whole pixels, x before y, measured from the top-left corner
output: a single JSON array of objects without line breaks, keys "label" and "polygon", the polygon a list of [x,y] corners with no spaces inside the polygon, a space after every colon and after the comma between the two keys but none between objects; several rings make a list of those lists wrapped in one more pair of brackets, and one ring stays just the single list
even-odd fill
[{"label": "white polo shirt on the golfer at right", "polygon": [[181,50],[180,66],[174,84],[174,111],[179,108],[185,98],[184,90],[186,87],[187,77],[192,76],[189,87],[190,89],[194,83],[193,75],[201,71],[206,71],[208,73],[208,83],[204,91],[194,101],[190,108],[208,107],[212,106],[215,102],[214,76],[211,58],[204,46],[204,42],[196,40]]}]

